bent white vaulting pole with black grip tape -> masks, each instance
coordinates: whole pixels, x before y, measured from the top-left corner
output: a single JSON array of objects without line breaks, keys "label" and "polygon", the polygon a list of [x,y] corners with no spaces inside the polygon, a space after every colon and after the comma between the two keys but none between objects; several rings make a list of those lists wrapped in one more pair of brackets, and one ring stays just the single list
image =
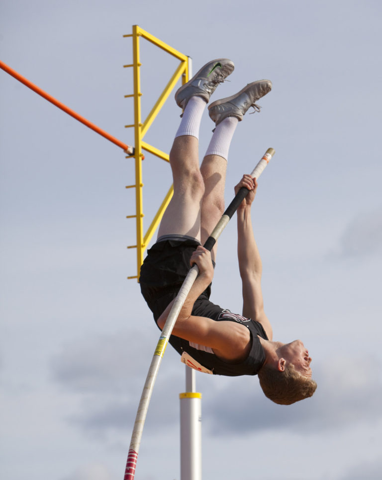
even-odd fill
[{"label": "bent white vaulting pole with black grip tape", "polygon": [[[273,148],[269,148],[267,150],[263,158],[259,161],[255,169],[252,171],[251,176],[253,178],[256,178],[256,179],[259,178],[259,176],[261,175],[264,168],[267,166],[269,160],[271,160],[274,154],[275,154],[275,150]],[[249,190],[246,187],[240,188],[240,190],[235,195],[235,198],[229,204],[228,208],[225,210],[221,219],[217,223],[210,237],[208,237],[208,239],[204,243],[203,245],[204,248],[206,248],[207,250],[212,249],[213,245],[216,243],[216,240],[219,238],[225,226],[227,225],[227,223],[229,222],[233,214],[236,212],[237,208],[239,207],[241,202],[244,200],[248,192]],[[153,359],[151,361],[149,372],[147,374],[146,382],[143,387],[143,392],[142,392],[141,400],[139,402],[137,415],[135,417],[135,423],[134,423],[133,433],[131,436],[129,454],[126,462],[124,480],[134,479],[135,467],[137,464],[138,451],[139,451],[139,445],[141,443],[143,426],[145,423],[146,414],[149,407],[151,394],[152,394],[154,383],[158,374],[158,370],[162,362],[163,354],[165,353],[167,343],[169,342],[171,332],[173,331],[174,325],[178,319],[180,311],[182,310],[183,304],[187,299],[187,296],[191,290],[193,282],[195,281],[198,273],[199,273],[199,269],[197,265],[193,265],[189,273],[187,274],[187,277],[185,278],[185,281],[183,282],[183,285],[174,301],[173,307],[169,313],[169,316],[167,317],[165,326],[163,327],[161,336],[159,337],[159,341],[155,349]]]}]

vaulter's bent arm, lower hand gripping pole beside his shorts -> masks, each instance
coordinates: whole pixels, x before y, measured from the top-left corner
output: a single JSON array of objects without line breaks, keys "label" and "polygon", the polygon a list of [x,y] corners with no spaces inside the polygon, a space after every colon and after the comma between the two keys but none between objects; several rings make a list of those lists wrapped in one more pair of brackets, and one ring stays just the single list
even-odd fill
[{"label": "vaulter's bent arm, lower hand gripping pole beside his shorts", "polygon": [[[180,338],[213,349],[214,353],[226,361],[244,360],[250,351],[250,333],[245,326],[232,321],[215,321],[206,317],[191,315],[197,297],[208,287],[213,277],[211,255],[208,250],[198,246],[191,256],[191,264],[196,263],[199,274],[181,309],[172,333]],[[173,302],[158,319],[163,328],[170,314]]]}]

